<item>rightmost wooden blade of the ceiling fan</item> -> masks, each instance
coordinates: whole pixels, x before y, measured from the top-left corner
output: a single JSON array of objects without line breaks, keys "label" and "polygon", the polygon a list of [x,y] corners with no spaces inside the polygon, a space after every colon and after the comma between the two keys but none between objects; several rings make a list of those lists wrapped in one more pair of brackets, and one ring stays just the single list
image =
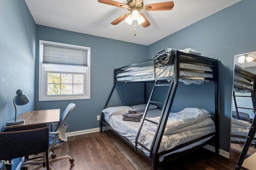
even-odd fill
[{"label": "rightmost wooden blade of the ceiling fan", "polygon": [[172,10],[173,7],[174,7],[174,3],[173,1],[170,1],[170,2],[160,2],[156,4],[147,4],[143,6],[143,10],[162,11],[162,10]]}]

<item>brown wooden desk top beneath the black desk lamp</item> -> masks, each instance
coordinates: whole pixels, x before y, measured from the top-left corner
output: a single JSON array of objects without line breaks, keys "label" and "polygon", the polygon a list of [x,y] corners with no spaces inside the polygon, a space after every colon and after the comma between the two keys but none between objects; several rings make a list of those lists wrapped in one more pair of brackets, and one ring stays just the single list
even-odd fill
[{"label": "brown wooden desk top beneath the black desk lamp", "polygon": [[24,119],[25,122],[20,125],[4,126],[3,131],[40,128],[45,127],[48,123],[56,123],[60,120],[60,109],[27,111],[17,119]]}]

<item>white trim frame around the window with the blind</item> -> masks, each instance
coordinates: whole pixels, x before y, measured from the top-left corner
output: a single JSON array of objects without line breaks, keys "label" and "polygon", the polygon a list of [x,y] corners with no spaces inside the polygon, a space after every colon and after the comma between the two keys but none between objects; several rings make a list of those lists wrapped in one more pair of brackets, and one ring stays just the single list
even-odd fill
[{"label": "white trim frame around the window with the blind", "polygon": [[[88,50],[88,66],[85,73],[85,88],[83,95],[54,95],[54,96],[47,96],[47,74],[44,72],[44,64],[43,64],[43,51],[42,51],[42,44],[50,44],[50,45],[59,45],[64,47],[71,47],[71,48],[78,48],[78,49],[86,49]],[[55,101],[55,100],[83,100],[83,99],[90,99],[90,59],[91,59],[91,48],[90,47],[83,47],[78,45],[70,45],[64,43],[56,43],[51,41],[43,41],[39,40],[39,72],[38,72],[38,101]],[[73,72],[75,73],[75,72]]]}]

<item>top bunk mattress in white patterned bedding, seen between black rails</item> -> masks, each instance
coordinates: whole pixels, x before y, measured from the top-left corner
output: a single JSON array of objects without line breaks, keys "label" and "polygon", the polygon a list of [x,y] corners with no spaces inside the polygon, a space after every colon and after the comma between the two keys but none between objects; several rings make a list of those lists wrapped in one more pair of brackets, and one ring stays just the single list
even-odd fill
[{"label": "top bunk mattress in white patterned bedding, seen between black rails", "polygon": [[[180,63],[180,68],[187,68],[193,70],[202,70],[202,71],[212,71],[212,68],[208,66],[200,66],[195,64],[188,64],[188,63]],[[130,68],[131,69],[131,68]],[[149,66],[144,67],[136,67],[132,70],[124,70],[116,75],[117,81],[125,81],[125,80],[138,80],[138,79],[146,79],[146,78],[154,78],[153,74],[154,68]],[[142,75],[135,75],[133,74],[141,74]],[[143,74],[145,73],[145,74]],[[121,77],[125,76],[125,77]],[[169,66],[161,66],[155,68],[155,77],[169,77],[174,76],[174,64]],[[182,71],[180,70],[180,76],[190,76],[190,77],[204,77],[204,78],[212,78],[213,74],[204,73],[204,72],[190,72],[190,71]],[[118,78],[119,77],[119,78]],[[202,84],[204,81],[209,80],[193,80],[193,79],[179,79],[180,82],[184,82],[185,84]]]}]

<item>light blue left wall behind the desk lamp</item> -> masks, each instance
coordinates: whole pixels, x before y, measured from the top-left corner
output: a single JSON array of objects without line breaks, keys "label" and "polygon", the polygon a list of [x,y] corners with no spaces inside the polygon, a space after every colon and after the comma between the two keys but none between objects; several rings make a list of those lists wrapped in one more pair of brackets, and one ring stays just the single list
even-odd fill
[{"label": "light blue left wall behind the desk lamp", "polygon": [[36,23],[25,1],[0,0],[1,128],[14,119],[16,90],[23,90],[30,98],[28,104],[17,106],[17,114],[34,109],[35,39]]}]

